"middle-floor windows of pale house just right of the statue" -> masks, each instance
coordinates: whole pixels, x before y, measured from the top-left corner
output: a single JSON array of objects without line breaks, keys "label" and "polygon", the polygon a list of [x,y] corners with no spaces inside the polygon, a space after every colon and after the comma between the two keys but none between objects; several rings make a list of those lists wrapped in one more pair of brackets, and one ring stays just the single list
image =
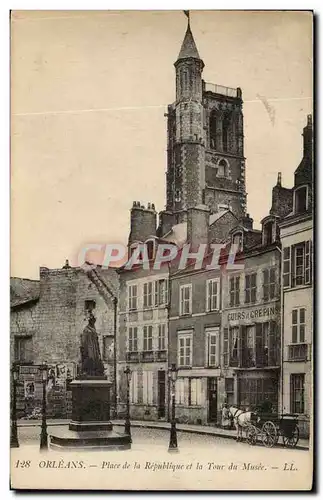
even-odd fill
[{"label": "middle-floor windows of pale house just right of the statue", "polygon": [[164,351],[167,346],[166,341],[166,325],[157,325],[157,337],[153,335],[153,325],[145,325],[142,327],[142,335],[138,336],[139,329],[137,326],[128,328],[128,352],[140,351]]}]

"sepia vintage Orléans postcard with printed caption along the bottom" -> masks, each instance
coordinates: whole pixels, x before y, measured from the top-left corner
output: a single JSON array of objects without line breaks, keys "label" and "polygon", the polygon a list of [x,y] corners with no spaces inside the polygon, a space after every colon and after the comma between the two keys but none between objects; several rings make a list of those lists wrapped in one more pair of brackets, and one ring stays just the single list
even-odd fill
[{"label": "sepia vintage Orl\u00e9ans postcard with printed caption along the bottom", "polygon": [[10,24],[11,488],[311,490],[313,12]]}]

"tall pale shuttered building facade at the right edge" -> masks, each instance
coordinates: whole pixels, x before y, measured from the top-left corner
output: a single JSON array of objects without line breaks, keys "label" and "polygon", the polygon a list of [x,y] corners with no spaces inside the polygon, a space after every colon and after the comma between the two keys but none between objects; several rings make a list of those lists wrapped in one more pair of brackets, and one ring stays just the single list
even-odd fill
[{"label": "tall pale shuttered building facade at the right edge", "polygon": [[295,171],[293,209],[280,223],[282,243],[282,410],[297,414],[308,436],[313,404],[313,136],[303,132],[303,159]]}]

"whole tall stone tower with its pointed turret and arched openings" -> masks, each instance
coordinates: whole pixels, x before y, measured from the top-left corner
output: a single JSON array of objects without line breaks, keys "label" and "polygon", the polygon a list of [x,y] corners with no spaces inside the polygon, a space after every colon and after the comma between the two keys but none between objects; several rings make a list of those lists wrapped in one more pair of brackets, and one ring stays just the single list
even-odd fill
[{"label": "whole tall stone tower with its pointed turret and arched openings", "polygon": [[242,92],[206,83],[190,23],[175,62],[176,100],[167,113],[166,211],[160,234],[205,204],[211,213],[246,212]]}]

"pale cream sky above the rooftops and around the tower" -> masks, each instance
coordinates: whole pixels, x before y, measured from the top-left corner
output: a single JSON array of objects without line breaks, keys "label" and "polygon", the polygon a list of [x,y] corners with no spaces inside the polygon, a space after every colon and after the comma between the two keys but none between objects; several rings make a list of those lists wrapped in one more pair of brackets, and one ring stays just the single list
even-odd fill
[{"label": "pale cream sky above the rooftops and around the tower", "polygon": [[[133,200],[166,201],[167,104],[182,11],[14,11],[11,276],[39,277],[90,243],[126,242]],[[247,208],[268,214],[312,112],[308,12],[192,11],[203,78],[241,87]]]}]

